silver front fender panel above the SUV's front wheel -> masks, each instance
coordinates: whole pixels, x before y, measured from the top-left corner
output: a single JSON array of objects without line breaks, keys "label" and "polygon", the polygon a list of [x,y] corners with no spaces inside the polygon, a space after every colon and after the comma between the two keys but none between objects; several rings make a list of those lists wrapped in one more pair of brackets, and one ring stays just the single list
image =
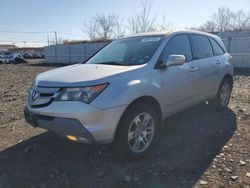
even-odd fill
[{"label": "silver front fender panel above the SUV's front wheel", "polygon": [[135,99],[143,96],[151,96],[162,104],[164,92],[161,84],[161,74],[158,71],[150,71],[136,77],[111,81],[109,86],[91,105],[100,109],[112,108],[129,105]]}]

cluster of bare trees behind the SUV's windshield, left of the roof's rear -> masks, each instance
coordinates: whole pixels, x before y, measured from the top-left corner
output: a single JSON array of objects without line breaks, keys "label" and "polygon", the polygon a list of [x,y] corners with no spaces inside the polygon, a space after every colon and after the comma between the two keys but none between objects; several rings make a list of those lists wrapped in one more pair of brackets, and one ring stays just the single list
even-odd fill
[{"label": "cluster of bare trees behind the SUV's windshield, left of the roof's rear", "polygon": [[152,3],[141,2],[141,9],[127,20],[119,14],[96,14],[83,24],[83,32],[90,40],[107,40],[124,36],[128,33],[142,33],[150,31],[170,31],[173,25],[162,17],[158,22],[157,16],[152,14]]}]

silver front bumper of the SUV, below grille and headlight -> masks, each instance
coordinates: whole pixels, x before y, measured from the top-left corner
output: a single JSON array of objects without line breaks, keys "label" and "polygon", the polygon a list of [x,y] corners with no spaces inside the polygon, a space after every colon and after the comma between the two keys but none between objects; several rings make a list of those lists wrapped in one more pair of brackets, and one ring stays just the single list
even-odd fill
[{"label": "silver front bumper of the SUV, below grille and headlight", "polygon": [[26,122],[68,138],[73,135],[77,142],[95,144],[113,141],[116,127],[126,106],[98,109],[81,102],[57,102],[42,108],[27,106]]}]

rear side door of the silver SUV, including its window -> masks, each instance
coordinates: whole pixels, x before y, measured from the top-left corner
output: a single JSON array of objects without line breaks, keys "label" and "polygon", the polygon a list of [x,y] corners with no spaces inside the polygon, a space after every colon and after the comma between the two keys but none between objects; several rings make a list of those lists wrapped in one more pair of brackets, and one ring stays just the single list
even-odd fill
[{"label": "rear side door of the silver SUV, including its window", "polygon": [[207,99],[214,93],[214,83],[219,75],[209,38],[205,35],[190,34],[193,58],[199,62],[201,81],[201,98]]}]

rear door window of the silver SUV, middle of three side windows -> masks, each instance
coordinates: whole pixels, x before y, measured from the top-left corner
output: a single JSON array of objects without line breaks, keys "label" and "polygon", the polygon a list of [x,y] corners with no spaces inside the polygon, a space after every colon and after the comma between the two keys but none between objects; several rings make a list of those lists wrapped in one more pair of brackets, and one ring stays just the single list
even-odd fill
[{"label": "rear door window of the silver SUV, middle of three side windows", "polygon": [[191,35],[194,59],[202,59],[213,56],[212,46],[207,37]]}]

